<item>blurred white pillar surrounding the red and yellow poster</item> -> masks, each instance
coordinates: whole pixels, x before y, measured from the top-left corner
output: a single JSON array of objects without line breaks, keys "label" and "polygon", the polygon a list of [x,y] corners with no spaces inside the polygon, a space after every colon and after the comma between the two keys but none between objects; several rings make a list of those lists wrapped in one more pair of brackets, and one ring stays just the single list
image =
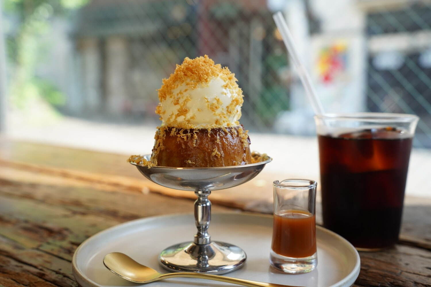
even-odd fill
[{"label": "blurred white pillar surrounding the red and yellow poster", "polygon": [[[312,10],[321,19],[321,33],[312,36],[313,60],[324,46],[342,41],[346,44],[346,68],[342,77],[323,83],[318,74],[313,78],[327,112],[354,112],[366,109],[365,11],[357,0],[312,0]],[[316,69],[314,69],[316,71]]]}]

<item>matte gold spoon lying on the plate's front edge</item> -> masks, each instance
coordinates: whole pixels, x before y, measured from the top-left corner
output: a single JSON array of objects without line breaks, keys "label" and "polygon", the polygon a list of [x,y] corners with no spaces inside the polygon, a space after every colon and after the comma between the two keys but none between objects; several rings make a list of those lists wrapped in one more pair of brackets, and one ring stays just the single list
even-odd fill
[{"label": "matte gold spoon lying on the plate's front edge", "polygon": [[[215,281],[228,282],[248,287],[296,287],[290,285],[281,285],[273,283],[265,283],[258,281],[251,281],[246,279],[231,278],[220,275],[194,273],[194,272],[175,272],[175,273],[159,273],[153,268],[139,264],[138,262],[131,259],[124,253],[112,252],[103,258],[103,264],[106,268],[111,270],[114,274],[120,276],[123,279],[134,283],[150,283],[153,281],[174,278],[174,277],[188,277],[188,278],[201,278]],[[297,286],[299,287],[299,286]]]}]

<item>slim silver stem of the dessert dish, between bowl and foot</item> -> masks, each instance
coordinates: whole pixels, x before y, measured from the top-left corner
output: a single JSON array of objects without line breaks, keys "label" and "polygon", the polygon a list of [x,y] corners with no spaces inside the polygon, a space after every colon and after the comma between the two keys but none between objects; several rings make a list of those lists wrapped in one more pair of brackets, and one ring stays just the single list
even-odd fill
[{"label": "slim silver stem of the dessert dish, between bowl and foot", "polygon": [[197,234],[194,236],[195,244],[209,244],[211,236],[208,234],[209,222],[211,221],[211,201],[208,195],[209,189],[197,190],[194,192],[197,200],[194,202],[194,221],[197,227]]}]

